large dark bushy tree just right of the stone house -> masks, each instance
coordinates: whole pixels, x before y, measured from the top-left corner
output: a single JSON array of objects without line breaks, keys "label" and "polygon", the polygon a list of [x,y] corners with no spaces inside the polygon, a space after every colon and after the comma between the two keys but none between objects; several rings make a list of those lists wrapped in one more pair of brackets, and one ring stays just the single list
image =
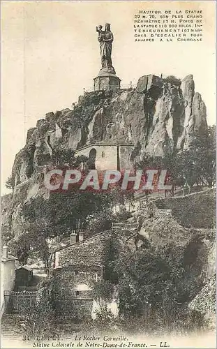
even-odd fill
[{"label": "large dark bushy tree just right of the stone house", "polygon": [[169,295],[176,301],[176,286],[169,265],[151,248],[125,249],[114,262],[119,276],[119,311],[124,316],[144,315],[158,309]]}]

